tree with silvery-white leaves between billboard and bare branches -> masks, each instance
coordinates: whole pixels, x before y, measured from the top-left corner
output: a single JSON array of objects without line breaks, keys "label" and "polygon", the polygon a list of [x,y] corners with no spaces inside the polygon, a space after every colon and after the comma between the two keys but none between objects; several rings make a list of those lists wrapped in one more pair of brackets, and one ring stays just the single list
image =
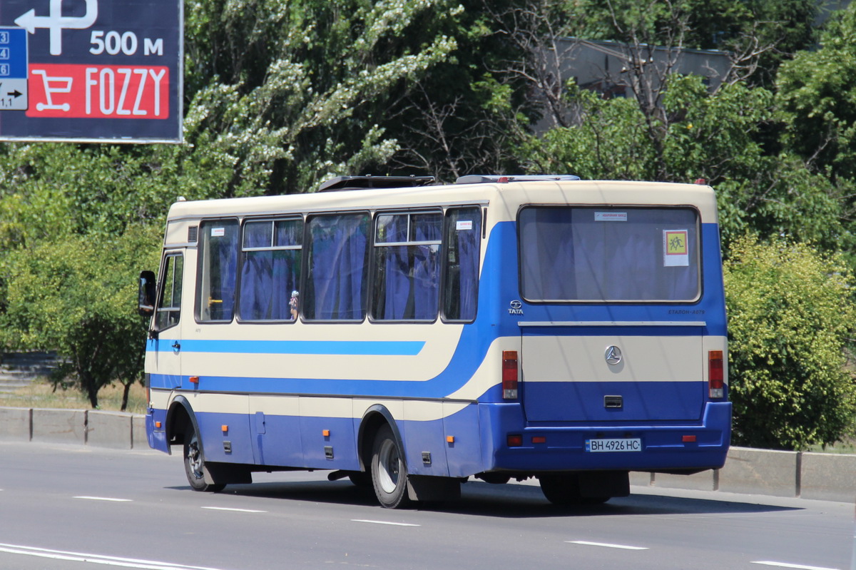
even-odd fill
[{"label": "tree with silvery-white leaves between billboard and bare branches", "polygon": [[[447,0],[199,0],[187,15],[185,123],[173,158],[223,196],[307,192],[399,150],[383,117],[455,39],[419,33]],[[411,45],[408,36],[423,40]]]}]

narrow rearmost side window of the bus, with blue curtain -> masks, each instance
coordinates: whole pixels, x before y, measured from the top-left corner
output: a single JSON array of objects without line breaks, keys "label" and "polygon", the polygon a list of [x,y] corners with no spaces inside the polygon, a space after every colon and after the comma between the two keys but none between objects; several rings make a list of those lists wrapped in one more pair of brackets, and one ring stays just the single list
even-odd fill
[{"label": "narrow rearmost side window of the bus, with blue curtain", "polygon": [[479,208],[446,211],[443,272],[443,317],[446,320],[472,321],[476,318],[481,222]]}]

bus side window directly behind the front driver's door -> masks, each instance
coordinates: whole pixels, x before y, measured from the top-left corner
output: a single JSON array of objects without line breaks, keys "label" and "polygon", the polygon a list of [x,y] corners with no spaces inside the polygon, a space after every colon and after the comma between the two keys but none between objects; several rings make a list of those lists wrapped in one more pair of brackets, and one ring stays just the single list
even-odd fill
[{"label": "bus side window directly behind the front driver's door", "polygon": [[235,314],[238,234],[237,220],[206,220],[199,224],[199,322],[228,323]]}]

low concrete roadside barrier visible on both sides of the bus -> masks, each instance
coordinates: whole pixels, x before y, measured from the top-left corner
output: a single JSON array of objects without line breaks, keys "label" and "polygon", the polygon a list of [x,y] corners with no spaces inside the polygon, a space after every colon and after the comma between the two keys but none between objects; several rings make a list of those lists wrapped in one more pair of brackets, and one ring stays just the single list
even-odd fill
[{"label": "low concrete roadside barrier visible on both sides of the bus", "polygon": [[[148,449],[146,416],[98,410],[0,407],[0,441]],[[694,475],[632,472],[630,484],[854,502],[856,454],[736,448],[722,469]]]}]

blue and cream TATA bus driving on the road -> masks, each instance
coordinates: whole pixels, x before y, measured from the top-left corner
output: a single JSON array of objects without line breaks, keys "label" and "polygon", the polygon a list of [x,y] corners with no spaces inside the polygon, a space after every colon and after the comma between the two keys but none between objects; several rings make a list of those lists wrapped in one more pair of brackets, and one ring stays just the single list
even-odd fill
[{"label": "blue and cream TATA bus driving on the road", "polygon": [[395,508],[538,478],[550,502],[728,451],[710,187],[339,177],[178,201],[140,276],[146,428],[195,490],[330,470]]}]

